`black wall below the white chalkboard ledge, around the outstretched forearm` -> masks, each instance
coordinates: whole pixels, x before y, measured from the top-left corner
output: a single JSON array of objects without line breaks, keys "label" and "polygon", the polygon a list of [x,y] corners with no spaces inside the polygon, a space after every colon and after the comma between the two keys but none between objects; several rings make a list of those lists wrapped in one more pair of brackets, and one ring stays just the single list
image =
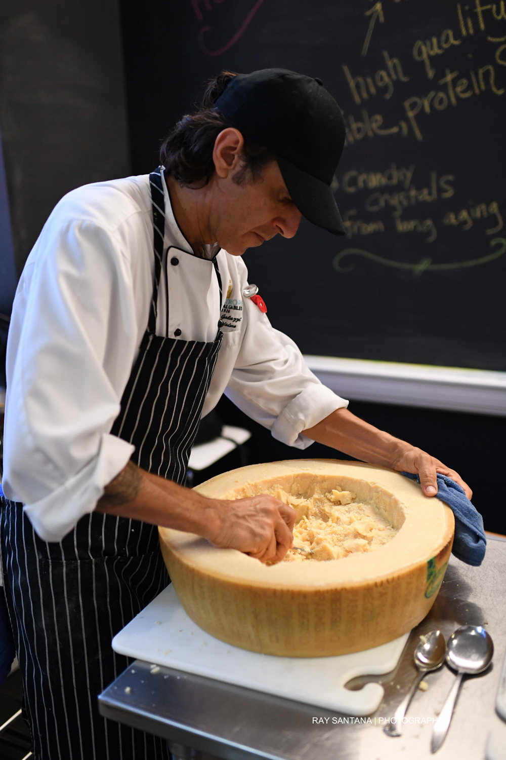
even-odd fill
[{"label": "black wall below the white chalkboard ledge, around the outstretched forearm", "polygon": [[[485,529],[506,534],[506,508],[500,485],[506,457],[504,417],[358,401],[350,402],[350,411],[371,425],[423,448],[457,470],[473,489],[473,504],[483,515]],[[225,423],[252,431],[247,443],[247,464],[300,458],[350,459],[319,443],[300,451],[276,441],[268,430],[250,420],[225,396],[218,404],[218,413]],[[215,464],[214,469],[209,469],[206,477],[241,467],[241,464],[238,455],[232,452]]]}]

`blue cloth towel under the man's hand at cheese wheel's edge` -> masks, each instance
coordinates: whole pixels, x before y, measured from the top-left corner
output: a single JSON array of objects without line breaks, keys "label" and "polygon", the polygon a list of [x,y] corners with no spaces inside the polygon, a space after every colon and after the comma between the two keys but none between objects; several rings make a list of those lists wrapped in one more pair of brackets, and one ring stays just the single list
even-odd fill
[{"label": "blue cloth towel under the man's hand at cheese wheel's edge", "polygon": [[[420,476],[402,473],[420,483]],[[467,498],[464,489],[446,475],[438,473],[437,498],[448,504],[455,518],[455,537],[451,553],[467,565],[481,565],[485,556],[487,540],[483,518]]]}]

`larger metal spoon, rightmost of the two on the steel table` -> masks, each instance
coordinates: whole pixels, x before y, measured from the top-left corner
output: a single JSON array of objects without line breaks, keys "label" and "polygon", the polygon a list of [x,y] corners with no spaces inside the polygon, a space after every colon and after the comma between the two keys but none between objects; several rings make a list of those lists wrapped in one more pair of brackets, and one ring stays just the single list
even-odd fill
[{"label": "larger metal spoon, rightmost of the two on the steel table", "polygon": [[492,638],[481,625],[463,625],[448,638],[446,662],[458,675],[432,730],[431,752],[437,752],[445,741],[464,673],[473,676],[482,673],[489,667],[493,654]]}]

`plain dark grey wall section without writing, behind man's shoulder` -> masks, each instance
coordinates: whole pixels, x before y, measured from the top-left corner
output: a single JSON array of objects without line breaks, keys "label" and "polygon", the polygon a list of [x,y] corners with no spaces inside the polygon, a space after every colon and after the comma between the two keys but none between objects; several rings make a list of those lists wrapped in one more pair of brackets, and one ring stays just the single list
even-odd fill
[{"label": "plain dark grey wall section without writing, behind man's shoulder", "polygon": [[0,129],[18,273],[52,208],[130,173],[116,0],[0,4]]}]

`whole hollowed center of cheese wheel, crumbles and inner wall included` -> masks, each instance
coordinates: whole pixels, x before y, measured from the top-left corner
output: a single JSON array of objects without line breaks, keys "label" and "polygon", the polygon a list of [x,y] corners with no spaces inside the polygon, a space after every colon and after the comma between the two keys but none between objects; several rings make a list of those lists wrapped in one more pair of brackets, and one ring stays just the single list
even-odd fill
[{"label": "whole hollowed center of cheese wheel, crumbles and inner wall included", "polygon": [[[240,496],[269,493],[297,512],[294,547],[284,562],[344,559],[373,552],[394,538],[404,522],[398,499],[385,489],[347,478],[303,474],[251,483]],[[233,497],[237,499],[235,492]]]}]

